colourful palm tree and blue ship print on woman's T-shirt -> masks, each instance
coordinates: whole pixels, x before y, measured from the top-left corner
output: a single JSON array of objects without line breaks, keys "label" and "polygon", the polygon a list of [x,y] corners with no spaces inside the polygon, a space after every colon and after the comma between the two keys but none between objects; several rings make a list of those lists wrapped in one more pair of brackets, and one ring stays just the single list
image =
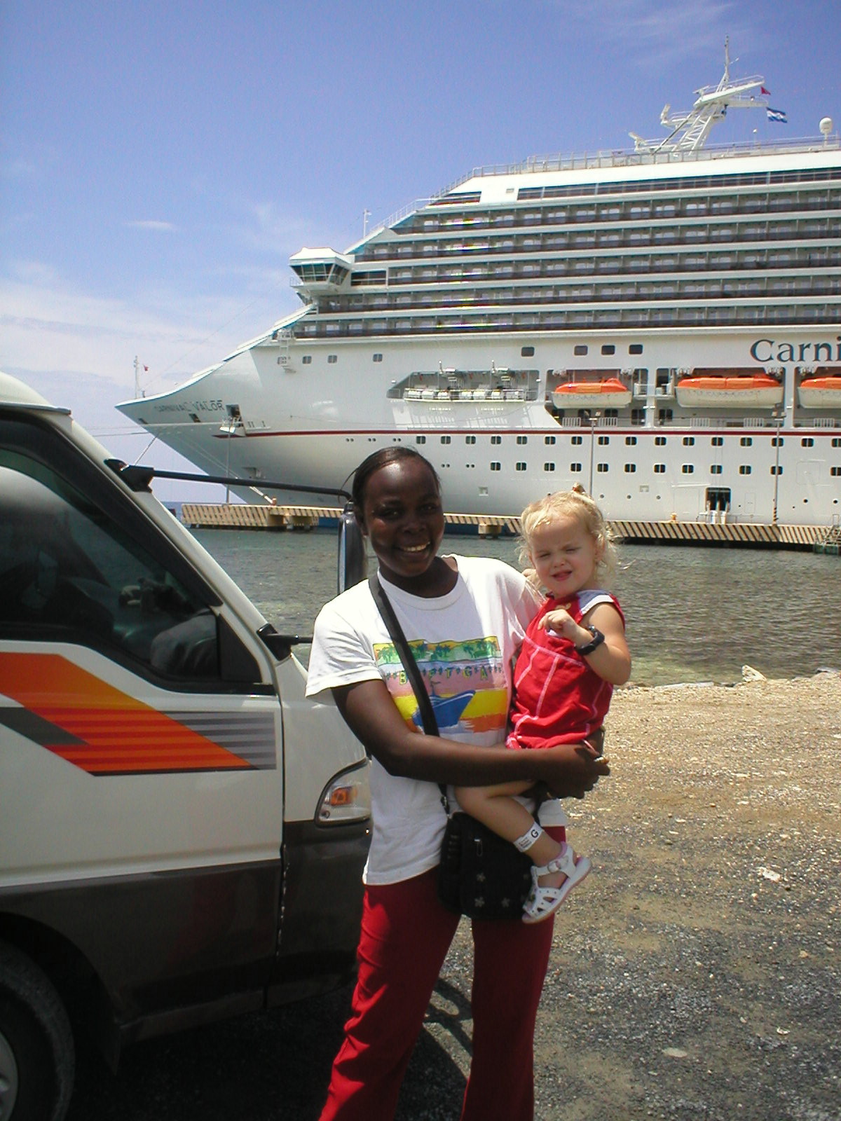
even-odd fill
[{"label": "colourful palm tree and blue ship print on woman's T-shirt", "polygon": [[[502,652],[496,636],[462,642],[409,642],[432,701],[438,731],[505,732],[508,688]],[[373,647],[377,668],[407,723],[423,728],[412,684],[394,643]]]}]

